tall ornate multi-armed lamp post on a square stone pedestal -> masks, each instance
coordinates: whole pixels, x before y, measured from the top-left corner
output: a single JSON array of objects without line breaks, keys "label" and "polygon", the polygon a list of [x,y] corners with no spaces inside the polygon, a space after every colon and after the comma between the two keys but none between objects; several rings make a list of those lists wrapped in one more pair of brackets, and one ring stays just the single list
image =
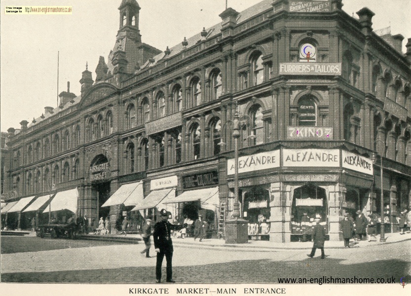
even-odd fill
[{"label": "tall ornate multi-armed lamp post on a square stone pedestal", "polygon": [[[243,116],[250,117],[248,115]],[[240,116],[237,108],[235,110],[234,120],[224,122],[222,131],[224,131],[224,127],[226,127],[225,124],[228,122],[232,124],[232,137],[234,138],[234,204],[232,218],[225,221],[225,243],[239,244],[248,242],[248,221],[240,218],[240,204],[238,199],[238,139],[240,137]],[[255,136],[250,135],[248,137]],[[221,140],[219,145],[225,145],[223,140]]]}]

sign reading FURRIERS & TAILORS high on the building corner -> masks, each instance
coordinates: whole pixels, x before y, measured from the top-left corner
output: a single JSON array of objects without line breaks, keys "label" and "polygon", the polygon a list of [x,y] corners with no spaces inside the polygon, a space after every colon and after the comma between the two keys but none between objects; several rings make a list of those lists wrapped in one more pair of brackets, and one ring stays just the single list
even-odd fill
[{"label": "sign reading FURRIERS & TAILORS high on the building corner", "polygon": [[341,75],[341,63],[280,63],[280,75]]}]

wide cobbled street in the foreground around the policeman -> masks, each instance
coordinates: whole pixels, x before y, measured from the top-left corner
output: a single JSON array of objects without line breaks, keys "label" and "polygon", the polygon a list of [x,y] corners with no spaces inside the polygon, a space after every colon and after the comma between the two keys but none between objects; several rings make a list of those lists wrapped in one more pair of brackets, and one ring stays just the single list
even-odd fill
[{"label": "wide cobbled street in the foreground around the policeman", "polygon": [[[155,280],[155,258],[146,259],[140,254],[143,244],[38,237],[2,237],[1,243],[2,282],[153,283]],[[13,245],[19,246],[15,248],[18,253],[3,252]],[[47,251],[36,252],[36,249]],[[154,256],[154,250],[150,252]],[[175,246],[173,277],[179,283],[277,283],[279,277],[323,276],[394,277],[396,283],[405,277],[411,281],[411,241],[351,249],[326,248],[324,260],[319,258],[319,250],[314,259],[307,258],[308,253],[309,250],[249,252]],[[165,272],[165,260],[163,266]]]}]

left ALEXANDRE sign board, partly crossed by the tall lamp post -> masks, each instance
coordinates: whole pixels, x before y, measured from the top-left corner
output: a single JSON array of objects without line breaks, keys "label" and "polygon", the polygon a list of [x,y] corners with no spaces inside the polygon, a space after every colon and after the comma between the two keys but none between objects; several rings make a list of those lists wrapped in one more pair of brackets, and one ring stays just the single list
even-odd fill
[{"label": "left ALEXANDRE sign board, partly crossed by the tall lamp post", "polygon": [[[227,175],[234,175],[234,159],[227,161]],[[280,167],[280,150],[262,152],[238,158],[238,173],[254,172]]]}]

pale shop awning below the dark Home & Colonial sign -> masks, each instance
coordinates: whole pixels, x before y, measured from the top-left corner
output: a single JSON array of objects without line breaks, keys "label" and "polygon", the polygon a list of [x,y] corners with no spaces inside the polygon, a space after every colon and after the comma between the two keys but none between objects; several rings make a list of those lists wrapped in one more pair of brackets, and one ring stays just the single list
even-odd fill
[{"label": "pale shop awning below the dark Home & Colonial sign", "polygon": [[203,209],[215,210],[220,205],[219,187],[184,191],[177,197],[163,201],[164,204],[199,200]]}]

